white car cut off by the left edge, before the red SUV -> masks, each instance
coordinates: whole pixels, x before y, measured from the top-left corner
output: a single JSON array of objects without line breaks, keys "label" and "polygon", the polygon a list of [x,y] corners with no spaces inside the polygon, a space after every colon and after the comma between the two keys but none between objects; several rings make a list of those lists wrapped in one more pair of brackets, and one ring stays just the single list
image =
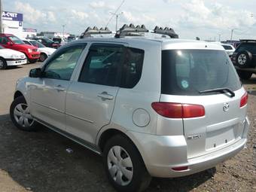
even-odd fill
[{"label": "white car cut off by the left edge, before the red SUV", "polygon": [[0,69],[6,69],[8,66],[20,66],[23,64],[26,64],[26,56],[24,53],[0,46]]}]

